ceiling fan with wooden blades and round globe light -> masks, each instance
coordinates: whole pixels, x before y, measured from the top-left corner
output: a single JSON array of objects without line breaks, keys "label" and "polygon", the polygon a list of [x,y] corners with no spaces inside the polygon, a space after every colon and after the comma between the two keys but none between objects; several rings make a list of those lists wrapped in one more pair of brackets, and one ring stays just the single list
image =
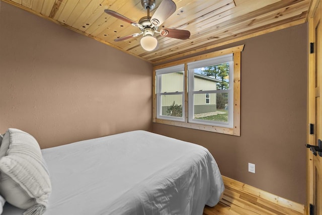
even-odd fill
[{"label": "ceiling fan with wooden blades and round globe light", "polygon": [[132,37],[143,35],[140,40],[142,48],[146,51],[152,51],[157,46],[157,39],[155,36],[153,36],[154,33],[159,33],[164,37],[171,37],[181,40],[185,40],[190,37],[190,32],[186,30],[163,28],[157,31],[158,27],[177,10],[177,6],[172,0],[163,0],[152,17],[150,17],[150,11],[152,11],[155,7],[155,0],[141,0],[141,4],[147,11],[147,15],[146,17],[142,17],[138,23],[130,20],[127,17],[124,17],[123,15],[115,11],[108,9],[104,10],[105,13],[124,22],[130,23],[132,26],[138,27],[141,30],[141,33],[135,33],[125,37],[120,37],[115,39],[114,41],[123,41]]}]

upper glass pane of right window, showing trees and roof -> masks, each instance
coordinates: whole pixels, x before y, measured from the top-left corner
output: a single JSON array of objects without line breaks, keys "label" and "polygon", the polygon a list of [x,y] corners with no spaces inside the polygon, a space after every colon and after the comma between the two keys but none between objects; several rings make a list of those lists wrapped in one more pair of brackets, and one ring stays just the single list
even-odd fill
[{"label": "upper glass pane of right window, showing trees and roof", "polygon": [[229,89],[229,63],[195,68],[194,91]]}]

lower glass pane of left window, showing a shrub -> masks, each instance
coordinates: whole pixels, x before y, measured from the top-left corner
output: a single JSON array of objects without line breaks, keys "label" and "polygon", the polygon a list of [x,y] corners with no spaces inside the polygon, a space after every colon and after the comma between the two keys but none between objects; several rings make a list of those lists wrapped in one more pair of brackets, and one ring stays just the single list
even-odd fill
[{"label": "lower glass pane of left window, showing a shrub", "polygon": [[162,95],[161,115],[182,117],[182,95]]}]

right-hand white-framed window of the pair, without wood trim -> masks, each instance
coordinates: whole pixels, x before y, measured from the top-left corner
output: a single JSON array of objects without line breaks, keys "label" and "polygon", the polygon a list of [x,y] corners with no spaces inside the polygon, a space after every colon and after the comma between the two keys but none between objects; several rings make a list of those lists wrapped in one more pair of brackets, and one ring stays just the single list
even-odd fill
[{"label": "right-hand white-framed window of the pair, without wood trim", "polygon": [[[232,128],[233,55],[188,62],[189,122]],[[206,96],[208,105],[203,103]],[[211,98],[211,104],[210,104]]]}]

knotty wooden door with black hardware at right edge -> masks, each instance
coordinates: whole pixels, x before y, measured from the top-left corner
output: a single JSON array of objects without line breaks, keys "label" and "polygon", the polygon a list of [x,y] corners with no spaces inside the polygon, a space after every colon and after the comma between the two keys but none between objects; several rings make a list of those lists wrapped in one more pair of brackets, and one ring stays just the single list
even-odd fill
[{"label": "knotty wooden door with black hardware at right edge", "polygon": [[[322,2],[312,1],[309,20],[309,77],[308,121],[313,129],[308,133],[308,144],[318,146],[322,140]],[[308,150],[308,205],[307,213],[322,215],[322,157]]]}]

